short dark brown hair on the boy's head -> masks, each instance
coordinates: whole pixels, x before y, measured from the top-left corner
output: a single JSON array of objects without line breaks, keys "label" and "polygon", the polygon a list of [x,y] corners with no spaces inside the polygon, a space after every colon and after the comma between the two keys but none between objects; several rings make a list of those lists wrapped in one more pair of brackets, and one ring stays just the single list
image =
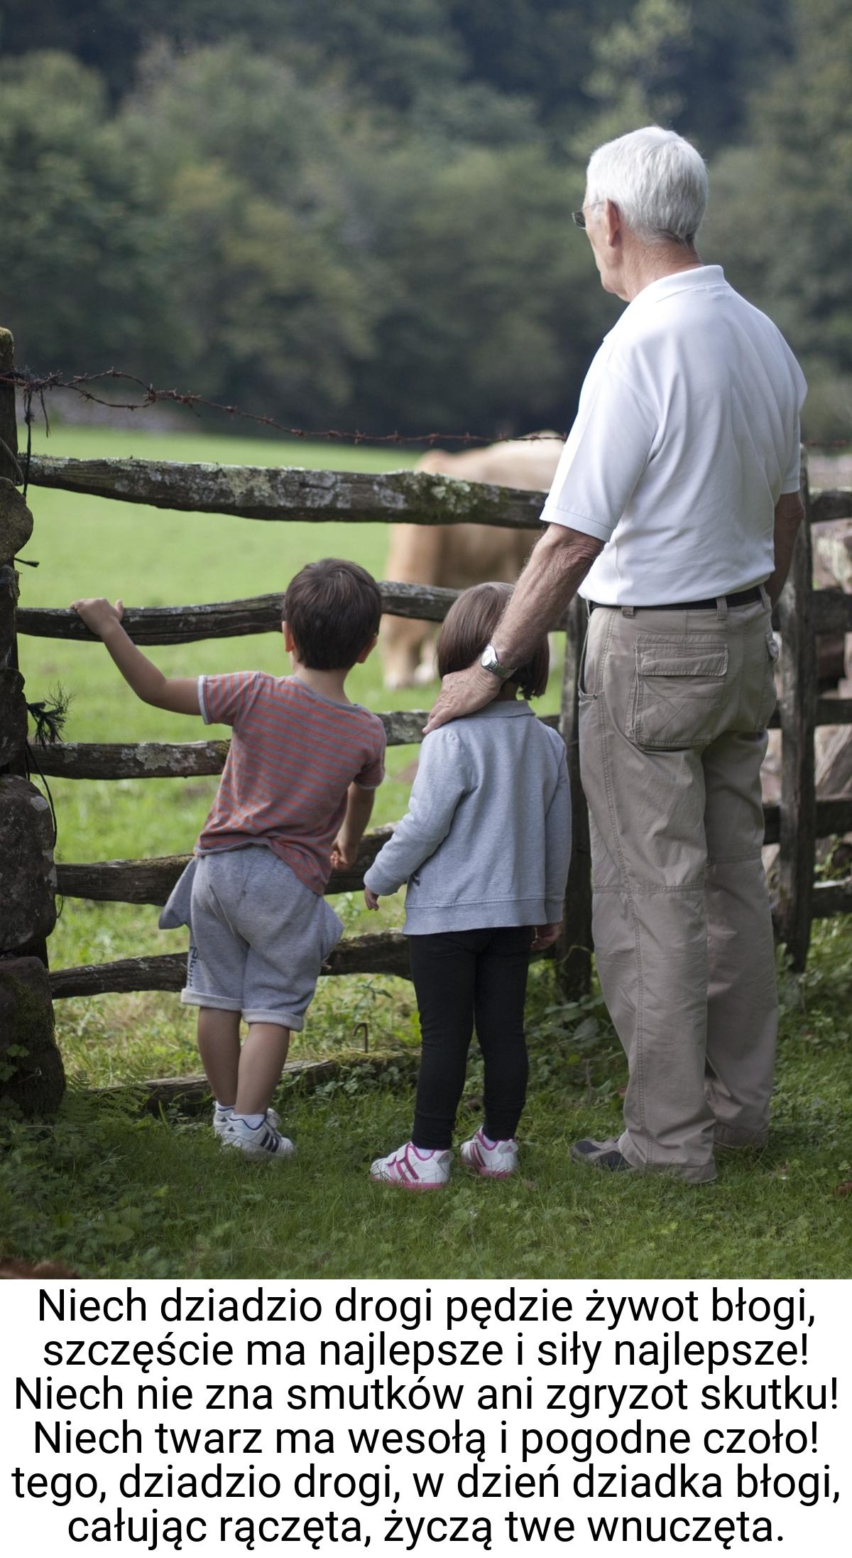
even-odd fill
[{"label": "short dark brown hair on the boy's head", "polygon": [[315,671],[349,670],[378,633],[382,595],[366,569],[341,558],[308,562],[290,581],[283,620]]}]

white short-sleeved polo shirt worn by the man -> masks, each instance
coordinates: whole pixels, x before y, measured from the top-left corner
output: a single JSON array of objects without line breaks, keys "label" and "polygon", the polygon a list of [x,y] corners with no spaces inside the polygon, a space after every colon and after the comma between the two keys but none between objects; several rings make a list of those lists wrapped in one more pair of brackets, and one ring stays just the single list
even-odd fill
[{"label": "white short-sleeved polo shirt worn by the man", "polygon": [[586,375],[542,522],[606,542],[581,586],[604,606],[751,589],[774,508],[799,491],[805,379],[721,265],[645,287]]}]

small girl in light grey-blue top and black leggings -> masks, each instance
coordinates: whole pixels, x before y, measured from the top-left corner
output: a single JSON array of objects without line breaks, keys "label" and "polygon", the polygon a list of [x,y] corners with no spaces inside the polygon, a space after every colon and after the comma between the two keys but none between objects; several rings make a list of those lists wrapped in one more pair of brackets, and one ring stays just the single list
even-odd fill
[{"label": "small girl in light grey-blue top and black leggings", "polygon": [[[483,653],[509,595],[509,584],[459,595],[438,640],[441,676]],[[447,1184],[474,1027],[484,1122],[461,1144],[461,1158],[492,1179],[517,1168],[530,950],[559,935],[572,840],[562,737],[517,701],[519,690],[523,700],[539,696],[547,673],[542,637],[494,703],[425,737],[408,813],[364,876],[368,908],[408,882],[405,933],[422,1031],[411,1140],[371,1168],[385,1184]]]}]

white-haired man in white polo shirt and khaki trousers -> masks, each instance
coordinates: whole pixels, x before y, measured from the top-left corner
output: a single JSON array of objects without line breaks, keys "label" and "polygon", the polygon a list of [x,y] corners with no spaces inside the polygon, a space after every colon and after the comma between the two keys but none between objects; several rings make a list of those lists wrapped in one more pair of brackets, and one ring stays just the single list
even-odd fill
[{"label": "white-haired man in white polo shirt and khaki trousers", "polygon": [[707,174],[671,131],[592,156],[575,221],[629,307],[592,361],[542,519],[481,664],[427,729],[486,704],[581,586],[579,749],[601,989],[629,1066],[601,1168],[715,1178],[766,1137],[777,1000],[762,868],[769,626],[802,517],[801,369],[702,265]]}]

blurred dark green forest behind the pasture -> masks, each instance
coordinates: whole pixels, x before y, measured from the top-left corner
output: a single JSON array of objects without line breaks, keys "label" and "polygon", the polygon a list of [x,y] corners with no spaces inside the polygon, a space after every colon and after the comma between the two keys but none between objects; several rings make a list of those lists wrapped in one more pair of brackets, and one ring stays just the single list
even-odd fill
[{"label": "blurred dark green forest behind the pasture", "polygon": [[850,56],[847,0],[0,0],[0,323],[294,425],[564,430],[620,308],[570,209],[659,122],[843,438]]}]

